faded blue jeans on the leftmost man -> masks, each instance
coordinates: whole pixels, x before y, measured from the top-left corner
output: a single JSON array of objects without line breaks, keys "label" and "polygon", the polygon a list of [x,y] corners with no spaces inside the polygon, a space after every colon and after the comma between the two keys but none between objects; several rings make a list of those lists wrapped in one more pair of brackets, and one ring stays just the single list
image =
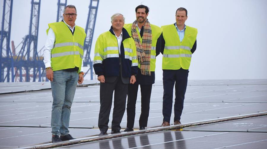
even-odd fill
[{"label": "faded blue jeans on the leftmost man", "polygon": [[76,91],[78,73],[64,70],[54,71],[51,82],[53,106],[51,115],[52,135],[69,134],[71,104]]}]

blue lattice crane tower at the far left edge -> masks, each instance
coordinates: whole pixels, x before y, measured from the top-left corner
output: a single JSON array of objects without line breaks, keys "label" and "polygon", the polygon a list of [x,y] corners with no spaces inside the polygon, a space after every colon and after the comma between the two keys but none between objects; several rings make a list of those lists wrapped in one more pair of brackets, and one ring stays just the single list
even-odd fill
[{"label": "blue lattice crane tower at the far left edge", "polygon": [[[12,62],[12,52],[10,50],[10,32],[11,32],[11,18],[12,18],[12,6],[13,0],[4,0],[3,4],[3,17],[1,24],[1,37],[0,37],[0,82],[4,82],[7,79],[9,82],[10,77],[10,69],[12,70],[12,78],[13,78],[13,67],[14,64]],[[11,57],[9,56],[11,55]],[[10,65],[11,64],[11,65]],[[4,69],[7,69],[7,74],[4,74]],[[14,81],[14,80],[13,80]]]}]

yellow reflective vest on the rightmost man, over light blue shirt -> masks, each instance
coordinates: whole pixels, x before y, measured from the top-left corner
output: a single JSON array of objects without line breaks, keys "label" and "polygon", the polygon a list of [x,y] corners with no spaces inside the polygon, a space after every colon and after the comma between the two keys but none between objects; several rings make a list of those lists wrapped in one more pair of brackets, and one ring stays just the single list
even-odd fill
[{"label": "yellow reflective vest on the rightmost man, over light blue shirt", "polygon": [[186,26],[185,37],[180,42],[177,30],[173,24],[161,26],[165,47],[162,57],[162,69],[178,70],[189,69],[191,62],[191,49],[196,41],[198,30]]}]

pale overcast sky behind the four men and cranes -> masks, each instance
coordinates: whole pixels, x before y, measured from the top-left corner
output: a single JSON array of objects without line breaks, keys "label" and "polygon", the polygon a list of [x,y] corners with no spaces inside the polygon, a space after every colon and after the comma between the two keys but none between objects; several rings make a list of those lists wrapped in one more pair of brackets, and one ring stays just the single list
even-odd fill
[{"label": "pale overcast sky behind the four men and cranes", "polygon": [[[67,4],[76,6],[76,25],[83,28],[89,2],[67,0]],[[97,37],[111,26],[110,17],[119,12],[124,15],[125,23],[132,23],[136,19],[135,7],[141,3],[150,8],[148,19],[157,26],[175,23],[176,9],[187,9],[185,24],[198,29],[197,49],[192,56],[188,79],[267,78],[266,0],[100,0],[91,59]],[[3,0],[0,0],[0,7],[3,7]],[[30,11],[31,0],[13,1],[11,40],[15,46],[28,34]],[[0,15],[2,20],[2,9]],[[47,24],[55,22],[56,15],[57,0],[42,0],[38,50],[45,44]],[[156,80],[162,80],[161,63],[160,54],[156,61]]]}]

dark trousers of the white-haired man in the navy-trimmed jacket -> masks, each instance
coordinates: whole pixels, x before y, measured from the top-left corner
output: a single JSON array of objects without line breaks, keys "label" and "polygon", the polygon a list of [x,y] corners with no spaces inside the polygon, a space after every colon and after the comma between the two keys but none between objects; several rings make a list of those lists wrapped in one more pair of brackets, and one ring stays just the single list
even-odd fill
[{"label": "dark trousers of the white-haired man in the navy-trimmed jacket", "polygon": [[121,129],[120,122],[125,112],[128,84],[124,84],[121,77],[117,77],[112,83],[100,83],[100,111],[98,116],[98,127],[100,131],[107,131],[109,128],[108,123],[113,91],[115,93],[111,129],[112,131]]}]

